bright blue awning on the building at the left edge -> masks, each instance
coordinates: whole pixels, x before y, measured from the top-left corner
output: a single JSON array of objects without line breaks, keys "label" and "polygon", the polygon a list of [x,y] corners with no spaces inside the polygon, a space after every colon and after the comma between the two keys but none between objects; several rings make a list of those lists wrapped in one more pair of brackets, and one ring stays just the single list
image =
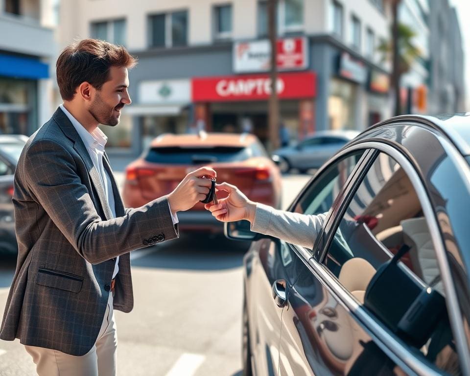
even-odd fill
[{"label": "bright blue awning on the building at the left edge", "polygon": [[49,78],[49,66],[35,59],[0,54],[0,76]]}]

